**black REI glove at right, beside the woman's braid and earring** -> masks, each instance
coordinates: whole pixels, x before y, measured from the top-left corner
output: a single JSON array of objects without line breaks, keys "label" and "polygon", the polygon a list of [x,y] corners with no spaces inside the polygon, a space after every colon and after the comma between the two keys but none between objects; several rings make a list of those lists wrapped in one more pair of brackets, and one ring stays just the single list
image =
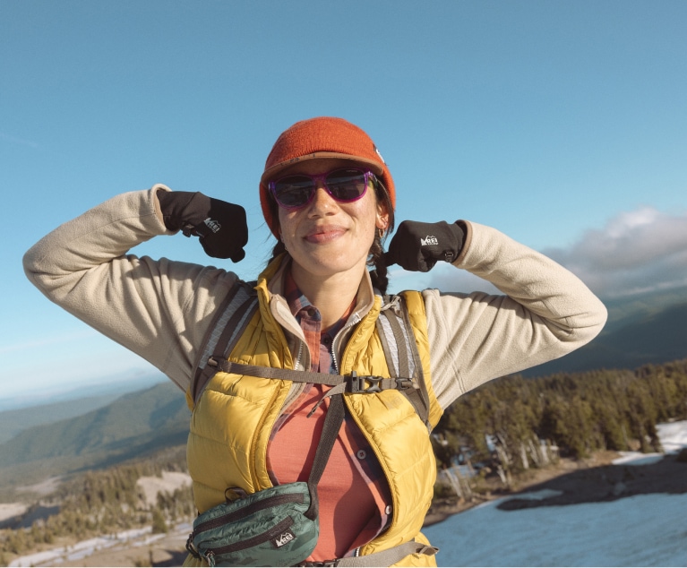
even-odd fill
[{"label": "black REI glove at right, beside the woman's braid and earring", "polygon": [[463,229],[459,221],[421,223],[403,221],[384,254],[387,266],[399,264],[407,271],[427,272],[437,261],[453,262],[463,248]]}]

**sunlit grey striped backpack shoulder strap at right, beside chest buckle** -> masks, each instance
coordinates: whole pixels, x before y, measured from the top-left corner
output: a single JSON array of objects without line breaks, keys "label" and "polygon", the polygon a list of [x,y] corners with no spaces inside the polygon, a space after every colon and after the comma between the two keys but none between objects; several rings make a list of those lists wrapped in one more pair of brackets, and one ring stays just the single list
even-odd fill
[{"label": "sunlit grey striped backpack shoulder strap at right, beside chest buckle", "polygon": [[408,317],[408,306],[402,296],[382,297],[382,311],[377,318],[376,326],[391,376],[412,379],[416,388],[402,392],[427,429],[431,430],[425,373]]}]

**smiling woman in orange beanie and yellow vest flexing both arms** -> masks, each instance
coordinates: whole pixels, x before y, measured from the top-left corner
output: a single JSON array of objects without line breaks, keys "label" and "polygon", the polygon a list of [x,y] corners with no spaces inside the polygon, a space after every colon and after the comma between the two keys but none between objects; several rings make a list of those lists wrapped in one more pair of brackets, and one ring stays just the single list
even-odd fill
[{"label": "smiling woman in orange beanie and yellow vest flexing both arms", "polygon": [[[402,305],[428,424],[393,389],[339,396],[315,379],[219,371],[190,390],[213,314],[236,289],[236,274],[126,253],[181,229],[200,236],[211,256],[238,262],[248,234],[239,206],[164,185],[118,195],[44,237],[24,266],[49,299],[187,392],[188,461],[199,512],[227,496],[307,480],[328,409],[343,400],[343,424],[317,485],[319,538],[301,560],[352,563],[368,556],[360,560],[370,564],[358,565],[434,565],[434,549],[419,532],[435,478],[427,426],[478,385],[592,340],[605,308],[571,272],[477,223],[406,221],[383,254],[395,198],[381,154],[355,125],[318,117],[282,133],[260,183],[262,211],[278,244],[254,286],[258,311],[228,362],[320,374],[313,376],[389,377],[393,366],[375,323]],[[387,265],[428,271],[439,261],[488,280],[503,296],[432,289],[400,301],[382,298]],[[398,553],[401,543],[418,544]],[[390,550],[401,556],[369,556]]]}]

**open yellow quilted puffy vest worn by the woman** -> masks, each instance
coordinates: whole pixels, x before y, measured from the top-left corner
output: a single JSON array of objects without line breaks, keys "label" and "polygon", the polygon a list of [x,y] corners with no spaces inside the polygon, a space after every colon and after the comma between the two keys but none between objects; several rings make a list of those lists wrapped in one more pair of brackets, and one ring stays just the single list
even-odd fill
[{"label": "open yellow quilted puffy vest worn by the woman", "polygon": [[[267,280],[271,268],[261,275],[256,287],[259,310],[229,360],[246,365],[293,368],[284,331],[270,311]],[[418,292],[404,292],[403,296],[429,393],[429,421],[434,427],[442,409],[434,396],[429,372],[425,304]],[[374,307],[352,332],[339,362],[340,374],[355,370],[357,374],[390,376],[374,325],[381,299],[375,297]],[[199,512],[223,503],[228,487],[241,487],[249,494],[271,487],[266,467],[267,443],[291,384],[223,372],[215,374],[207,383],[193,408],[187,446],[193,498]],[[436,464],[426,426],[398,391],[347,393],[344,400],[382,464],[393,503],[391,525],[363,546],[360,554],[380,552],[413,538],[428,544],[420,529],[432,502]],[[409,555],[399,565],[436,564],[434,556]]]}]

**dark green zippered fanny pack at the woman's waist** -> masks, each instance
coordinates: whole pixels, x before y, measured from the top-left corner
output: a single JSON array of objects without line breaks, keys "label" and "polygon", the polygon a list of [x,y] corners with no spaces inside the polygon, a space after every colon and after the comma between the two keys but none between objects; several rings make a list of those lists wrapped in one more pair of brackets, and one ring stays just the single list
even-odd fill
[{"label": "dark green zippered fanny pack at the woman's waist", "polygon": [[193,521],[186,549],[210,566],[293,566],[313,553],[320,523],[307,516],[305,481],[221,503]]}]

